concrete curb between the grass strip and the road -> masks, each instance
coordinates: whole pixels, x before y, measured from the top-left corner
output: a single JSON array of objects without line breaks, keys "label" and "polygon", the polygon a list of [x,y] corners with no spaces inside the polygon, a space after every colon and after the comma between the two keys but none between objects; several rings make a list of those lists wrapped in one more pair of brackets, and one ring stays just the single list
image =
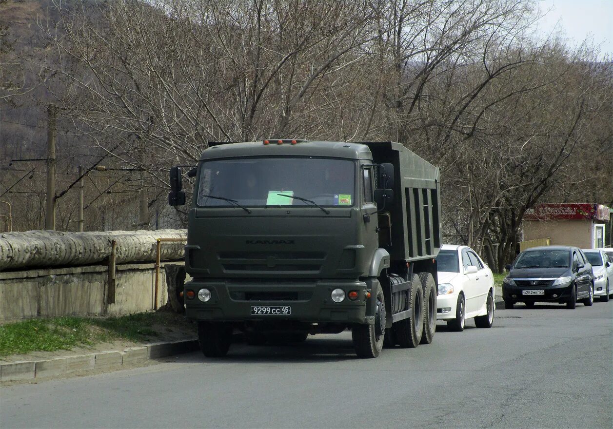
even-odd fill
[{"label": "concrete curb between the grass strip and the road", "polygon": [[91,354],[57,357],[55,359],[21,360],[0,363],[0,382],[34,380],[51,376],[62,376],[79,371],[108,370],[121,368],[150,359],[183,354],[198,349],[198,340],[150,343],[140,347],[128,347],[123,351],[106,351]]}]

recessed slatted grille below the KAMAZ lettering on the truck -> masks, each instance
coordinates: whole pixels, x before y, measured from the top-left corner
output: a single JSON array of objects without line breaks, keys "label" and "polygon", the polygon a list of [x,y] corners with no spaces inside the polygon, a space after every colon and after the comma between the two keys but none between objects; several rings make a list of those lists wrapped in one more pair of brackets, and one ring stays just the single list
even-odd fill
[{"label": "recessed slatted grille below the KAMAZ lettering on the truck", "polygon": [[324,252],[219,252],[225,271],[313,271],[321,270]]}]

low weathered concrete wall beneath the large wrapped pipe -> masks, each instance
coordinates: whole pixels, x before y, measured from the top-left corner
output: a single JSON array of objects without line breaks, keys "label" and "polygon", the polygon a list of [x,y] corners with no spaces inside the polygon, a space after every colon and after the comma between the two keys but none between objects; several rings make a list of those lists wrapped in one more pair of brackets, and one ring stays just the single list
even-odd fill
[{"label": "low weathered concrete wall beneath the large wrapped pipe", "polygon": [[114,297],[109,293],[109,267],[105,265],[2,272],[0,322],[130,314],[164,305],[181,311],[178,292],[185,281],[183,262],[160,265],[157,301],[155,264],[115,265]]}]

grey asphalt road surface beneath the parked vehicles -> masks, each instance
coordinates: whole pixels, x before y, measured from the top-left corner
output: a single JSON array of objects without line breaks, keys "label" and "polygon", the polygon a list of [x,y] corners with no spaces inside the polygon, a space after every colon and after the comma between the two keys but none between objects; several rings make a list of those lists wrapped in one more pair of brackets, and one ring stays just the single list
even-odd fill
[{"label": "grey asphalt road surface beneath the parked vehicles", "polygon": [[378,359],[342,333],[4,387],[0,427],[613,427],[613,303],[517,307]]}]

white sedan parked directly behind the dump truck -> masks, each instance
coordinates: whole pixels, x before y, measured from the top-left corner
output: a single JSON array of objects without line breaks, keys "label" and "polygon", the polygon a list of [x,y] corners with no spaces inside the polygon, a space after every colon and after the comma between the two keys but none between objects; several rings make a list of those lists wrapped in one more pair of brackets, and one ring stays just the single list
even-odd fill
[{"label": "white sedan parked directly behind the dump truck", "polygon": [[443,245],[436,264],[436,319],[455,331],[464,330],[466,319],[473,317],[477,327],[492,327],[496,309],[492,270],[468,246]]}]

